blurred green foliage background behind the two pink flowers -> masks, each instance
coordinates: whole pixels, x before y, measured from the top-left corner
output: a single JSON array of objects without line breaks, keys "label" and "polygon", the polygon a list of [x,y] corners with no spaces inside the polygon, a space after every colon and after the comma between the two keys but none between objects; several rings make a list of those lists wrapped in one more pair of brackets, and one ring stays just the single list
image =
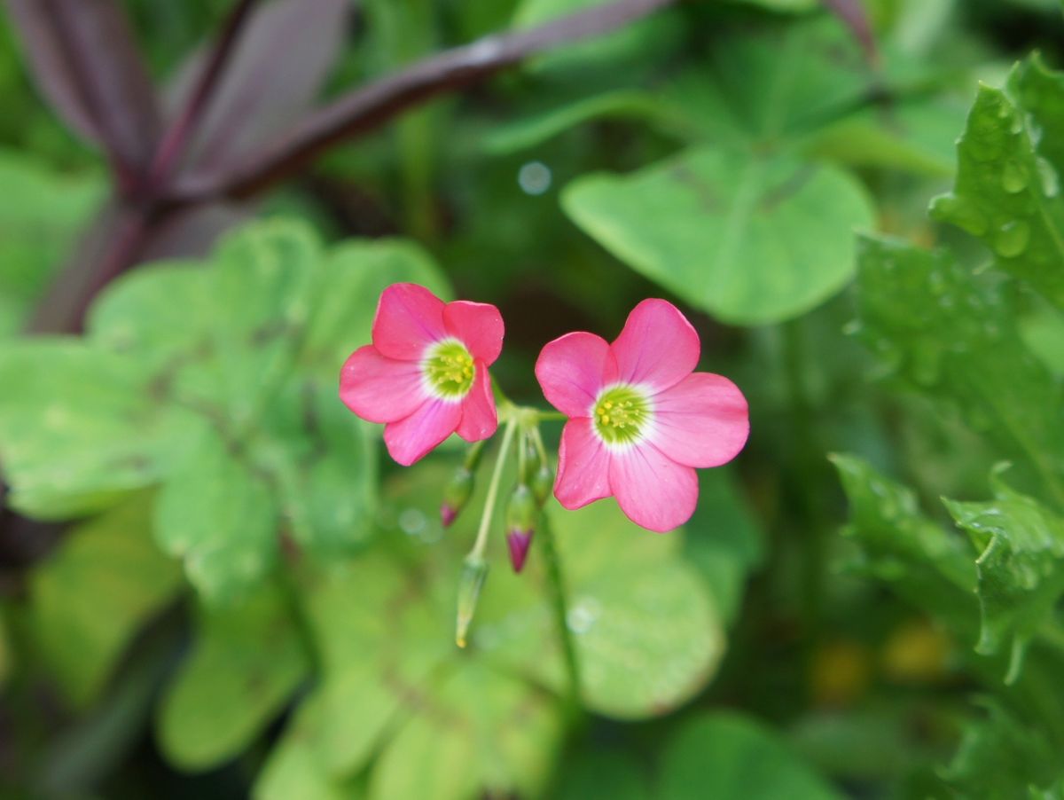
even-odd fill
[{"label": "blurred green foliage background behind the two pink flowers", "polygon": [[[178,176],[597,4],[253,3]],[[113,5],[172,122],[233,3]],[[666,5],[187,216],[0,17],[0,795],[1064,797],[1060,3]],[[336,397],[397,281],[497,304],[519,403],[645,297],[750,401],[682,531],[548,504],[579,709],[501,520],[454,646],[486,476],[445,531],[461,448]]]}]

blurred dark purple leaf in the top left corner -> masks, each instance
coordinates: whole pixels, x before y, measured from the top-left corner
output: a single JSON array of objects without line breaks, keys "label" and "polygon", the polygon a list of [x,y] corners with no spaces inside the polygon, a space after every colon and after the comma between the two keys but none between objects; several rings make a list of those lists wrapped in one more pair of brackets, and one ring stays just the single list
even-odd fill
[{"label": "blurred dark purple leaf in the top left corner", "polygon": [[147,166],[160,134],[155,94],[115,0],[7,0],[33,78],[55,112],[101,145],[120,178]]}]

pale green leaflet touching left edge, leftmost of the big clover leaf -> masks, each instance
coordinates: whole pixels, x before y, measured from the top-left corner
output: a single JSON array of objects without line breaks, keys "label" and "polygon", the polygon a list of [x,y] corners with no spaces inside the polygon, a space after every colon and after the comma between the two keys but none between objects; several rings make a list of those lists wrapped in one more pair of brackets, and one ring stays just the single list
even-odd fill
[{"label": "pale green leaflet touching left edge, leftmost of the big clover leaf", "polygon": [[201,426],[157,402],[132,360],[76,339],[0,349],[0,462],[13,507],[45,519],[100,511],[156,483]]}]

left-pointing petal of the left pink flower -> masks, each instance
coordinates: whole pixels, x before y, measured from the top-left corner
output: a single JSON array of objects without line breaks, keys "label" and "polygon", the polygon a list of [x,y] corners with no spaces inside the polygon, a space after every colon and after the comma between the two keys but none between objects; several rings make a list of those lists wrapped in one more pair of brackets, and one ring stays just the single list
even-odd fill
[{"label": "left-pointing petal of the left pink flower", "polygon": [[416,363],[385,359],[372,345],[351,353],[339,372],[339,399],[370,422],[409,417],[428,397]]}]

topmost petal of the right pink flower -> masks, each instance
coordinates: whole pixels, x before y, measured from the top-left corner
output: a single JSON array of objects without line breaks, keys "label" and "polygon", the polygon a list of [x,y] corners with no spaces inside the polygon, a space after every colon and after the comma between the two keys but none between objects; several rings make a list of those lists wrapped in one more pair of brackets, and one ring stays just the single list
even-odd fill
[{"label": "topmost petal of the right pink flower", "polygon": [[644,300],[610,346],[618,379],[656,389],[675,386],[698,366],[701,345],[687,318],[665,300]]}]

